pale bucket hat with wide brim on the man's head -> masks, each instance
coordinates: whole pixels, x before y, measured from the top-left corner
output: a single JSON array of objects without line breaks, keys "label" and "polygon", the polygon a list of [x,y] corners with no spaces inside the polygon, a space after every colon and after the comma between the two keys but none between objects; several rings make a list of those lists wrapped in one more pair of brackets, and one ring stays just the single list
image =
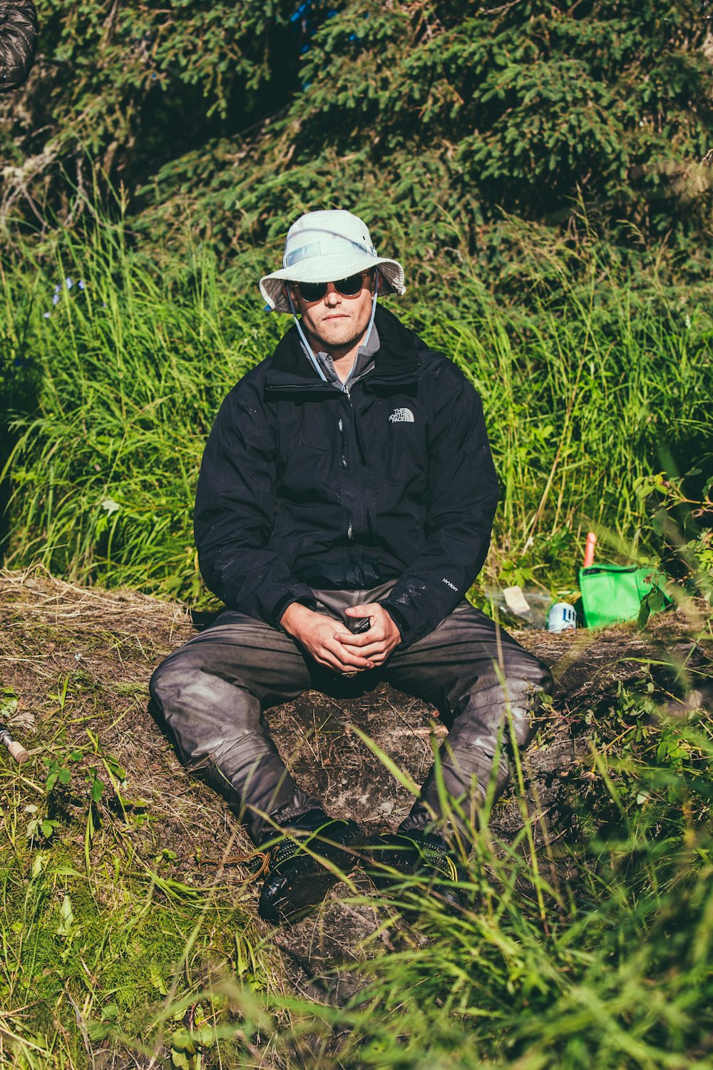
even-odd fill
[{"label": "pale bucket hat with wide brim on the man's head", "polygon": [[285,282],[334,282],[378,266],[379,293],[405,293],[404,270],[398,260],[376,255],[363,219],[341,209],[306,212],[290,227],[282,268],[260,279],[260,292],[277,312],[292,312]]}]

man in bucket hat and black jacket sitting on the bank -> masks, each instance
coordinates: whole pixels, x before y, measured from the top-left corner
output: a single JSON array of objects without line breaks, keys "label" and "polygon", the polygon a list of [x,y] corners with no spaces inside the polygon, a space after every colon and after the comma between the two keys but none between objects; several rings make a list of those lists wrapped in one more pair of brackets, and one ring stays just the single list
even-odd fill
[{"label": "man in bucket hat and black jacket sitting on the bank", "polygon": [[[465,599],[497,502],[482,404],[377,305],[404,293],[404,272],[357,216],[300,216],[282,264],[260,289],[294,326],[228,394],[198,483],[200,568],[227,609],[164,661],[152,694],[186,764],[208,770],[267,852],[263,918],[316,905],[360,852],[379,887],[422,873],[456,906],[489,781],[497,794],[508,779],[503,730],[527,745],[549,683]],[[297,785],[263,713],[381,681],[450,731],[408,816],[365,845]]]}]

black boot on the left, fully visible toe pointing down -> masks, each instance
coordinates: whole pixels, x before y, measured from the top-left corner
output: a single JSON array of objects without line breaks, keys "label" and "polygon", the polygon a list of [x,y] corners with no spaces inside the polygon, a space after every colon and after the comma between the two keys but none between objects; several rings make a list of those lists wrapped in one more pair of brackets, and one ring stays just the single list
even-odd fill
[{"label": "black boot on the left, fully visible toe pointing down", "polygon": [[357,861],[363,834],[354,821],[310,810],[290,821],[283,834],[272,834],[262,850],[267,871],[258,913],[273,924],[290,924],[322,902],[329,889]]}]

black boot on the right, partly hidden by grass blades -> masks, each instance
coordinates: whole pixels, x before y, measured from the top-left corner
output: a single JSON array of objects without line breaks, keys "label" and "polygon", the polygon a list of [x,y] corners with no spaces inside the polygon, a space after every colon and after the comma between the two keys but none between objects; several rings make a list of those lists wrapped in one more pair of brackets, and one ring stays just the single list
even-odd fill
[{"label": "black boot on the right, partly hidden by grass blades", "polygon": [[[366,871],[379,891],[400,899],[409,890],[417,893],[409,897],[412,902],[408,899],[403,902],[403,910],[418,912],[418,892],[425,895],[427,891],[445,903],[451,913],[458,913],[463,906],[458,882],[464,874],[439,836],[418,831],[384,832],[369,841],[367,855]],[[410,880],[413,877],[425,877],[425,883]]]}]

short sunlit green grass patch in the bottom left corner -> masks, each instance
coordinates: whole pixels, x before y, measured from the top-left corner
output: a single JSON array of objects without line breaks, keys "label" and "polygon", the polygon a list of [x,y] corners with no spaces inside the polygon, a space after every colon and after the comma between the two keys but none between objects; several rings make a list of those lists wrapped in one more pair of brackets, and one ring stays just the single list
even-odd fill
[{"label": "short sunlit green grass patch in the bottom left corner", "polygon": [[[102,1065],[107,1048],[136,1066],[134,1056],[146,1065],[174,1048],[179,1067],[184,1020],[198,1029],[230,1006],[258,1028],[266,1015],[251,993],[273,972],[245,903],[205,871],[171,878],[175,853],[159,835],[106,809],[82,847],[77,819],[98,824],[99,811],[86,804],[79,815],[68,789],[46,789],[46,771],[37,765],[20,782],[0,767],[0,1065],[79,1070],[95,1053]],[[50,812],[59,820],[43,832]]]}]

